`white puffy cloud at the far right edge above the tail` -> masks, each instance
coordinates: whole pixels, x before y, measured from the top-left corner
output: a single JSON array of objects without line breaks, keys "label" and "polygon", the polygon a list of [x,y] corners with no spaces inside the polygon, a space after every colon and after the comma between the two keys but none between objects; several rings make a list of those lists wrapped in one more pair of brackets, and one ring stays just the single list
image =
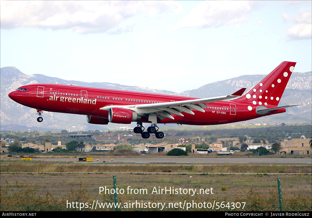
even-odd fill
[{"label": "white puffy cloud at the far right edge above the tail", "polygon": [[292,24],[291,27],[287,29],[287,36],[289,37],[289,39],[311,39],[312,37],[311,13],[312,13],[311,7],[302,8],[300,10],[300,14],[297,14],[295,16],[294,19],[295,23]]}]

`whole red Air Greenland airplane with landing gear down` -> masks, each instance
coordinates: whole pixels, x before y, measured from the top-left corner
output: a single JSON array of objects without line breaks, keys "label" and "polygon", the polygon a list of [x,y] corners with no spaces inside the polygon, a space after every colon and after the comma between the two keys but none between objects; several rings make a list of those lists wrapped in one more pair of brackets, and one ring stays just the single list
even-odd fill
[{"label": "whole red Air Greenland airplane with landing gear down", "polygon": [[[15,102],[37,109],[38,122],[42,111],[87,115],[92,124],[137,122],[134,132],[143,138],[158,131],[158,123],[216,125],[246,121],[286,111],[288,105],[277,107],[296,62],[282,62],[246,95],[246,88],[228,96],[194,98],[155,93],[59,84],[31,84],[19,87],[9,97]],[[142,123],[151,126],[144,131]]]}]

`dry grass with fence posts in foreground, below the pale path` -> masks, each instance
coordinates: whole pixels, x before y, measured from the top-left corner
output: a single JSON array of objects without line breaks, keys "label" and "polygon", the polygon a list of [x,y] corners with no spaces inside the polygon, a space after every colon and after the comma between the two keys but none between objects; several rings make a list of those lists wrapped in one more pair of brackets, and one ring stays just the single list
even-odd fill
[{"label": "dry grass with fence posts in foreground, below the pale path", "polygon": [[[112,175],[108,174],[1,174],[1,211],[79,211],[66,208],[67,202],[101,203],[114,202],[114,195],[99,194],[99,186],[113,189]],[[246,202],[244,209],[227,207],[217,211],[279,211],[277,176],[269,175],[141,175],[119,174],[117,187],[124,194],[118,194],[118,202],[179,203],[203,202]],[[282,186],[284,211],[311,211],[311,176],[279,176]],[[146,189],[147,193],[128,194],[127,188]],[[206,194],[156,194],[153,190],[163,188],[211,190]],[[237,204],[238,205],[238,204]],[[90,208],[82,208],[91,211]],[[153,208],[119,208],[119,211],[160,211]],[[214,209],[216,210],[216,209]],[[114,211],[114,208],[97,208],[97,211]],[[186,208],[164,208],[163,211],[186,211]],[[213,211],[211,208],[195,208],[188,211]]]}]

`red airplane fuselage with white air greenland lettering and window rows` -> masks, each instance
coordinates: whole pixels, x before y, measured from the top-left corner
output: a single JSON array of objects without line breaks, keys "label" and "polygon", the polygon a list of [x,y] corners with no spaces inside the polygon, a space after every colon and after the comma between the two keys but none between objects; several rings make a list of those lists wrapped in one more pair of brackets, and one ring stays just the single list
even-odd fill
[{"label": "red airplane fuselage with white air greenland lettering and window rows", "polygon": [[[101,107],[110,105],[150,104],[160,102],[176,102],[196,99],[194,97],[163,95],[145,92],[132,92],[103,88],[81,87],[76,85],[60,84],[31,84],[20,87],[23,90],[11,92],[9,96],[16,102],[42,111],[89,115],[107,119],[108,111]],[[282,113],[279,109],[270,114],[259,115],[256,110],[249,111],[251,104],[232,101],[217,101],[205,103],[205,112],[193,110],[194,115],[184,113],[184,116],[172,115],[173,119],[158,119],[158,123],[178,123],[188,125],[217,125],[246,121],[261,116]],[[104,120],[103,120],[104,121]],[[141,122],[149,123],[147,117],[142,116]],[[103,123],[105,124],[105,122]]]}]

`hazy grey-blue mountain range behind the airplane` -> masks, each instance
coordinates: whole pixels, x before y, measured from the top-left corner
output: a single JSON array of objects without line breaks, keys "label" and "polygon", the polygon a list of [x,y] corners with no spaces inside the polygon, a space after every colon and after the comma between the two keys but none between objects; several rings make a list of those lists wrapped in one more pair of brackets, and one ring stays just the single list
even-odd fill
[{"label": "hazy grey-blue mountain range behind the airplane", "polygon": [[[243,121],[236,124],[251,124],[251,123],[306,123],[312,119],[312,72],[298,73],[293,72],[286,86],[285,92],[280,100],[280,105],[303,104],[299,107],[287,108],[286,113],[277,114],[274,116],[261,117],[256,120]],[[55,112],[43,112],[44,121],[37,122],[36,110],[22,106],[12,101],[8,94],[18,87],[26,84],[35,83],[58,83],[58,84],[74,84],[86,87],[110,88],[137,92],[152,92],[169,95],[191,96],[191,97],[215,97],[228,95],[246,87],[246,91],[251,90],[258,82],[266,75],[244,75],[232,79],[227,79],[219,82],[209,83],[198,89],[187,90],[180,93],[167,90],[149,89],[137,86],[125,86],[108,82],[80,82],[74,80],[63,80],[56,77],[48,77],[42,74],[26,75],[16,67],[1,68],[1,130],[62,130],[70,131],[88,130],[88,129],[119,129],[121,126],[109,123],[108,125],[88,124],[86,117],[83,115],[63,114]],[[229,124],[235,125],[235,124]]]}]

